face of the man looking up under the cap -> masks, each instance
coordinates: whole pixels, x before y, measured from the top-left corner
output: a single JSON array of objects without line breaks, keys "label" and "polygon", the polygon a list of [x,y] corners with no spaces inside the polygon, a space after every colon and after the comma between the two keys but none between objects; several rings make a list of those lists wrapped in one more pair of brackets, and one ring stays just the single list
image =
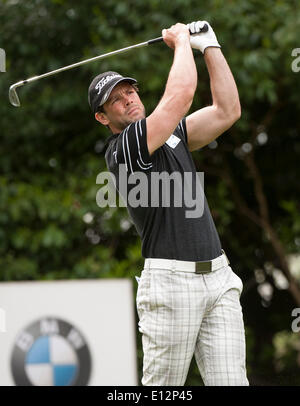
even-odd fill
[{"label": "face of the man looking up under the cap", "polygon": [[119,133],[129,124],[145,117],[145,107],[137,91],[128,82],[119,83],[104,103],[104,113],[96,113],[96,120]]}]

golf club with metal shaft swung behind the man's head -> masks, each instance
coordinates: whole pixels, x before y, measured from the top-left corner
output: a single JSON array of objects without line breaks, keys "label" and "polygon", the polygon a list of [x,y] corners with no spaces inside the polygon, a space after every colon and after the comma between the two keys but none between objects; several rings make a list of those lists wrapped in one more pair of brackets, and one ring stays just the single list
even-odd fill
[{"label": "golf club with metal shaft swung behind the man's head", "polygon": [[[207,30],[208,30],[208,25],[204,24],[204,26],[203,26],[203,28],[201,28],[200,32],[207,32]],[[191,35],[192,35],[192,33],[191,33]],[[131,45],[131,46],[126,47],[126,48],[121,48],[121,49],[118,49],[117,51],[108,52],[107,54],[94,56],[93,58],[89,58],[89,59],[86,59],[84,61],[74,63],[72,65],[64,66],[62,68],[55,69],[55,70],[53,70],[51,72],[43,73],[42,75],[39,75],[39,76],[33,76],[32,78],[29,78],[29,79],[26,79],[26,80],[21,80],[20,82],[14,83],[13,85],[10,86],[9,92],[8,92],[9,101],[11,102],[11,104],[13,106],[20,107],[21,103],[20,103],[20,99],[18,97],[16,89],[18,87],[20,87],[20,86],[25,85],[26,83],[34,82],[36,80],[46,78],[47,76],[52,76],[52,75],[55,75],[56,73],[60,73],[60,72],[63,72],[65,70],[76,68],[77,66],[84,65],[86,63],[96,61],[97,59],[107,58],[108,56],[111,56],[111,55],[117,55],[117,54],[121,54],[122,52],[127,52],[130,49],[141,48],[141,47],[144,47],[146,45],[155,44],[155,43],[161,42],[161,41],[163,41],[163,37],[150,39],[149,41],[141,42],[141,43],[136,44],[136,45]]]}]

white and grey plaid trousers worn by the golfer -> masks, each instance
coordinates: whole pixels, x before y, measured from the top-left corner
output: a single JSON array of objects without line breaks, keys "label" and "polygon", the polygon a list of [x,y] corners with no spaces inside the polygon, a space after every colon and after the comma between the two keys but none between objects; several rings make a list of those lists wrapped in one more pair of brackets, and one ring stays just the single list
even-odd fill
[{"label": "white and grey plaid trousers worn by the golfer", "polygon": [[242,289],[230,266],[208,274],[144,269],[136,297],[142,385],[184,385],[193,355],[205,385],[249,385]]}]

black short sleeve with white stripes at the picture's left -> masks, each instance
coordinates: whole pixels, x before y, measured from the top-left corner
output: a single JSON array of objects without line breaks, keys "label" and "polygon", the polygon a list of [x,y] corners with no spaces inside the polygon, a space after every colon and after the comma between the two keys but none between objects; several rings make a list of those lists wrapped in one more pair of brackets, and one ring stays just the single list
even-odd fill
[{"label": "black short sleeve with white stripes at the picture's left", "polygon": [[114,165],[125,164],[126,171],[147,171],[152,168],[147,145],[146,119],[136,121],[125,128],[110,149]]}]

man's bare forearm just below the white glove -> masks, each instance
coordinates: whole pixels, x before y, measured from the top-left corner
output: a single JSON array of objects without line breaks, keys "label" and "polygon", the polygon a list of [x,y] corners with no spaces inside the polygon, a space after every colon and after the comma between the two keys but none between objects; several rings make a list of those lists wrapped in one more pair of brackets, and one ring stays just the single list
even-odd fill
[{"label": "man's bare forearm just below the white glove", "polygon": [[228,117],[239,117],[241,106],[235,80],[219,48],[207,48],[205,63],[210,77],[213,105]]}]

